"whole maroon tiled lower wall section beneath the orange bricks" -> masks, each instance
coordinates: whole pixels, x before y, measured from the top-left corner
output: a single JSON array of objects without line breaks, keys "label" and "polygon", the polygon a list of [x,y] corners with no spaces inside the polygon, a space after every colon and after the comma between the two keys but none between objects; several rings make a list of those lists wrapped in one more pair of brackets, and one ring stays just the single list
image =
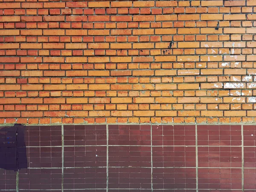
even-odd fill
[{"label": "whole maroon tiled lower wall section beneath the orange bricks", "polygon": [[1,127],[0,191],[255,192],[255,135],[255,125]]}]

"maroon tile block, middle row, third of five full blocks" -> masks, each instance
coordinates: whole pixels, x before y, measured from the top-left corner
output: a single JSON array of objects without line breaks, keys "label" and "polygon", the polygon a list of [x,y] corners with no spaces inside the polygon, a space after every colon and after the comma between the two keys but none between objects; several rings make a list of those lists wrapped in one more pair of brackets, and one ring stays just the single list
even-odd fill
[{"label": "maroon tile block, middle row, third of five full blocks", "polygon": [[109,146],[109,166],[151,167],[150,146]]}]

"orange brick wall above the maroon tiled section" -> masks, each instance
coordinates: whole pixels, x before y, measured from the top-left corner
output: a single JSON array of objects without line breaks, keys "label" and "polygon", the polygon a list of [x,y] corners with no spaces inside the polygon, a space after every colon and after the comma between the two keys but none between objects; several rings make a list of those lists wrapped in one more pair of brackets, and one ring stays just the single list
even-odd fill
[{"label": "orange brick wall above the maroon tiled section", "polygon": [[255,0],[0,2],[0,123],[254,122]]}]

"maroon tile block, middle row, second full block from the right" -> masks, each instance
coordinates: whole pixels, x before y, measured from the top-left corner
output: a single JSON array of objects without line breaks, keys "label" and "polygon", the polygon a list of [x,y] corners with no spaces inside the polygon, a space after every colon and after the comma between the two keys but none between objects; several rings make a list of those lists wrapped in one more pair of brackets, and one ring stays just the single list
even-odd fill
[{"label": "maroon tile block, middle row, second full block from the right", "polygon": [[195,147],[153,147],[153,167],[195,167]]}]

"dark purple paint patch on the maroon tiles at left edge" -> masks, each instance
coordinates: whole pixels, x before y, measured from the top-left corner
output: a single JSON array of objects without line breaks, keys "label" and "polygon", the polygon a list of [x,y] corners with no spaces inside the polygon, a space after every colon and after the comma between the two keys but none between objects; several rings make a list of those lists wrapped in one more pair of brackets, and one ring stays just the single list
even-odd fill
[{"label": "dark purple paint patch on the maroon tiles at left edge", "polygon": [[10,127],[0,127],[0,169],[27,169],[25,132],[26,127],[15,124]]}]

